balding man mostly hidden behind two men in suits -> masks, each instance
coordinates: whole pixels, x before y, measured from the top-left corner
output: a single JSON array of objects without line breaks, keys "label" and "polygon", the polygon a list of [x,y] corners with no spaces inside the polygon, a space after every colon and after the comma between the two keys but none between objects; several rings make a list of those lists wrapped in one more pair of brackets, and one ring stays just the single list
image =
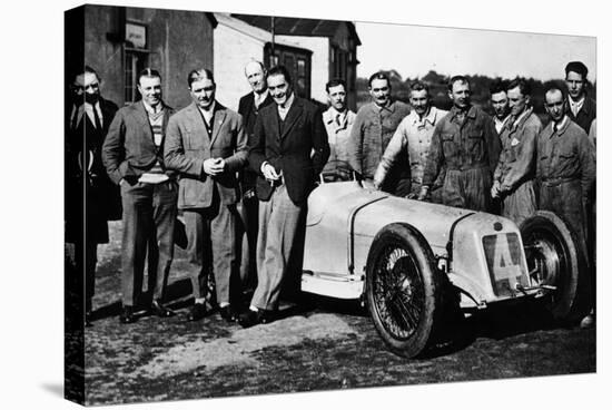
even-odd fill
[{"label": "balding man mostly hidden behind two men in suits", "polygon": [[[266,82],[266,68],[259,61],[251,60],[245,67],[245,76],[253,88],[249,92],[240,98],[238,104],[238,113],[243,116],[245,133],[248,138],[253,136],[255,120],[259,110],[274,102],[268,85]],[[258,201],[255,196],[255,183],[257,174],[250,168],[245,167],[240,172],[240,194],[241,201],[238,203],[238,213],[240,221],[238,223],[237,243],[240,246],[240,279],[246,287],[255,286],[257,279],[257,213]]]}]

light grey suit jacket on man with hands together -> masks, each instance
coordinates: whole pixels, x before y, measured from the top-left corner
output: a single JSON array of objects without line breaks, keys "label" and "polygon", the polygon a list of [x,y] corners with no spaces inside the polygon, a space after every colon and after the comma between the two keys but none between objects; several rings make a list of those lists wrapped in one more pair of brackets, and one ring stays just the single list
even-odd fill
[{"label": "light grey suit jacket on man with hands together", "polygon": [[[223,204],[238,201],[236,172],[246,164],[247,136],[237,113],[215,102],[209,138],[204,117],[193,102],[170,118],[164,152],[168,169],[180,173],[179,208],[209,207],[215,187]],[[209,176],[204,173],[204,160],[216,157],[225,159],[226,169],[221,175]]]}]

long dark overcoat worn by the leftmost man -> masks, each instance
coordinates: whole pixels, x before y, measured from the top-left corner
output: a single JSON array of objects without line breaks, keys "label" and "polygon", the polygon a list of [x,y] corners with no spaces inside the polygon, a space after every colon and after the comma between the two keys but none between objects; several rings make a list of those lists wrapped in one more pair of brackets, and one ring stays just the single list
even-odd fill
[{"label": "long dark overcoat worn by the leftmost man", "polygon": [[99,104],[101,129],[96,128],[85,111],[73,124],[71,117],[75,107],[66,107],[66,235],[70,241],[82,238],[85,202],[88,241],[108,242],[106,222],[121,217],[118,187],[109,179],[101,158],[102,143],[118,108],[115,102],[103,98],[99,99]]}]

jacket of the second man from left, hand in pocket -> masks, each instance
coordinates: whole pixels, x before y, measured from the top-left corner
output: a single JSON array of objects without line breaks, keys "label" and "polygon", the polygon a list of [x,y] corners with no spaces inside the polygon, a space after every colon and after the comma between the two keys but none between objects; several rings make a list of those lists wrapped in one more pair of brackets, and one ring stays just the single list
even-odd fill
[{"label": "jacket of the second man from left, hand in pocket", "polygon": [[[121,178],[135,183],[158,160],[161,167],[165,167],[164,139],[168,120],[175,110],[165,105],[164,111],[164,137],[159,147],[155,145],[151,125],[142,101],[134,102],[117,111],[102,146],[102,162],[108,175],[116,184],[119,184]],[[166,174],[171,176],[175,173],[166,170]]]}]

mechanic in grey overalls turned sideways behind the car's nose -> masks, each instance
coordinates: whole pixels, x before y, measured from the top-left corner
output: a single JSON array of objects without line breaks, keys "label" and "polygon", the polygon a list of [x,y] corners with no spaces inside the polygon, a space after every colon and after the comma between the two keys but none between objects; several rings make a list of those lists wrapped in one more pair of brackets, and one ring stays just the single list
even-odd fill
[{"label": "mechanic in grey overalls turned sideways behind the car's nose", "polygon": [[542,121],[530,106],[531,87],[517,78],[507,86],[511,115],[500,133],[503,146],[493,175],[491,196],[502,199],[502,216],[521,225],[536,209],[535,141]]}]

